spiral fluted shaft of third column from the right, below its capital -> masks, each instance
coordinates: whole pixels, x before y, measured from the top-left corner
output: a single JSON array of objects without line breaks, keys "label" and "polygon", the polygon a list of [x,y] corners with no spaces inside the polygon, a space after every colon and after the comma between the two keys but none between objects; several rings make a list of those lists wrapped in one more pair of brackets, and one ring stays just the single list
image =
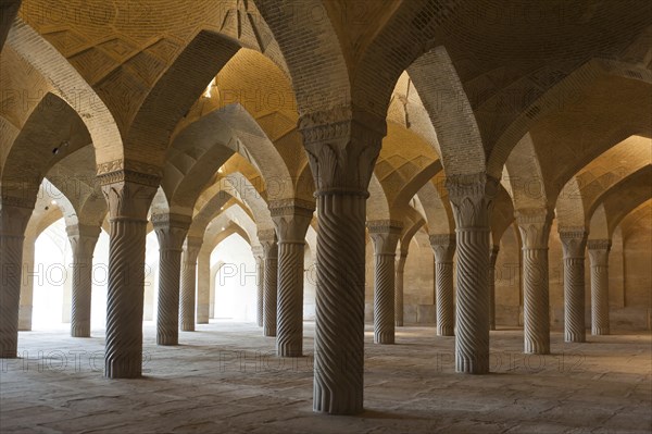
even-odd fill
[{"label": "spiral fluted shaft of third column from the right, below its capital", "polygon": [[523,249],[524,351],[550,354],[548,249]]}]

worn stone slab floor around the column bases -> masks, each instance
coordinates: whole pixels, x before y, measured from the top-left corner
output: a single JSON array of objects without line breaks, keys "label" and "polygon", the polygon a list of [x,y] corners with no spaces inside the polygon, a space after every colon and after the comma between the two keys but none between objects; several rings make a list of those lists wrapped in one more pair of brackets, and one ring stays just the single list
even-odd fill
[{"label": "worn stone slab floor around the column bases", "polygon": [[[305,323],[306,354],[313,323]],[[312,412],[312,360],[273,356],[274,339],[217,321],[156,347],[145,326],[141,380],[102,377],[103,336],[22,332],[23,359],[0,360],[0,432],[7,433],[650,433],[649,334],[590,336],[526,357],[522,332],[491,333],[493,373],[454,373],[453,338],[402,327],[399,344],[366,331],[365,408]]]}]

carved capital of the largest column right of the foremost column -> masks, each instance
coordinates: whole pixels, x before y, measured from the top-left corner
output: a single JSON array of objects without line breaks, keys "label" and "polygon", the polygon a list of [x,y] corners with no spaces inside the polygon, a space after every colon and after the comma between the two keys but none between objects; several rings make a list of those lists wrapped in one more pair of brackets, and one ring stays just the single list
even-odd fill
[{"label": "carved capital of the largest column right of the foremost column", "polygon": [[450,175],[446,187],[460,230],[488,227],[499,182],[487,173]]}]

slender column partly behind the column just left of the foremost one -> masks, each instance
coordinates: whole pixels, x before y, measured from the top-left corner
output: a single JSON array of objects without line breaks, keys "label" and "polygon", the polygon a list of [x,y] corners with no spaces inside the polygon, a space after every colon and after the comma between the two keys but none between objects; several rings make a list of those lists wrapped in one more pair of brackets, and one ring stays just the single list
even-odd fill
[{"label": "slender column partly behind the column just left of the foremost one", "polygon": [[265,256],[265,282],[263,287],[263,335],[276,336],[276,308],[278,295],[278,244],[274,230],[259,232],[259,240]]}]

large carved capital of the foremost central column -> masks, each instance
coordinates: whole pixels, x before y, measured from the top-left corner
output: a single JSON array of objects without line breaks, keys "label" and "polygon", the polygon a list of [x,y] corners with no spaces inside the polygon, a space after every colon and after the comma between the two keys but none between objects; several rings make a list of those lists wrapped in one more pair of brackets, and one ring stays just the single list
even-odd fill
[{"label": "large carved capital of the foremost central column", "polygon": [[367,186],[387,134],[385,119],[337,107],[304,114],[299,131],[317,195],[368,196]]}]

